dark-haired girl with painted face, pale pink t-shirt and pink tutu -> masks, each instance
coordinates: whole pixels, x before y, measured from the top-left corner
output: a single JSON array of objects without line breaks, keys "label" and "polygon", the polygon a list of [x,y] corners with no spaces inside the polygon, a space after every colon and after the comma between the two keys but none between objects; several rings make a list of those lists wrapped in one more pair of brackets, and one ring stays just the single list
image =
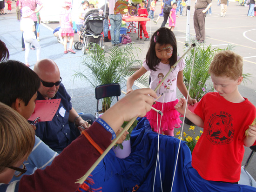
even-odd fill
[{"label": "dark-haired girl with painted face, pale pink t-shirt and pink tutu", "polygon": [[[177,55],[177,43],[174,33],[166,27],[159,28],[151,37],[143,65],[127,80],[127,94],[133,91],[132,86],[135,80],[148,71],[151,77],[149,87],[155,90],[178,59],[180,57]],[[182,123],[180,113],[175,110],[174,106],[178,102],[177,88],[186,98],[188,96],[188,90],[183,82],[184,67],[185,61],[182,59],[173,71],[168,74],[167,79],[161,83],[159,90],[156,91],[157,96],[162,95],[162,93],[163,96],[155,102],[153,107],[162,111],[163,116],[161,119],[161,115],[154,110],[147,113],[147,119],[154,132],[174,136],[174,128],[180,127],[180,123]],[[190,105],[196,103],[196,100],[191,99],[190,96],[188,96],[187,100]]]}]

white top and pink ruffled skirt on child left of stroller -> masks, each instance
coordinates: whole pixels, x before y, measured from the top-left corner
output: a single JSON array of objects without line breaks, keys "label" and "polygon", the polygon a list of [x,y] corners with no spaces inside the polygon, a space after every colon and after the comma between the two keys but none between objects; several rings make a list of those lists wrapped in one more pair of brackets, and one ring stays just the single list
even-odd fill
[{"label": "white top and pink ruffled skirt on child left of stroller", "polygon": [[61,19],[61,36],[74,36],[74,31],[69,23],[69,17],[71,17],[70,10],[66,10],[63,8],[63,11],[61,11],[60,19]]}]

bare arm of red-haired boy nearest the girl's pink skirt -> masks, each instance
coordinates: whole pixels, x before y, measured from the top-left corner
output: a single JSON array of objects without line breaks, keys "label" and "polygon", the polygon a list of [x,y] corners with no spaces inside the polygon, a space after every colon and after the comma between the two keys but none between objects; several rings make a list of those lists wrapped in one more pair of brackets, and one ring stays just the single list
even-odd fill
[{"label": "bare arm of red-haired boy nearest the girl's pink skirt", "polygon": [[[176,106],[174,106],[174,108],[182,115],[184,115],[184,113],[185,113],[185,106],[186,106],[185,103],[186,102],[187,102],[186,99],[181,98],[179,100],[179,102],[176,104]],[[195,113],[192,113],[191,111],[189,111],[188,106],[186,109],[186,118],[188,118],[190,121],[192,121],[196,126],[200,126],[203,128],[202,119]]]}]

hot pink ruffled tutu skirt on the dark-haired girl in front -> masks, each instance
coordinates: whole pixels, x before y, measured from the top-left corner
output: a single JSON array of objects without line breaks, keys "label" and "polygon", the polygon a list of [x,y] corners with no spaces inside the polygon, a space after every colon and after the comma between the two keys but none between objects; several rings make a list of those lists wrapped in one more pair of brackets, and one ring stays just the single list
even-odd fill
[{"label": "hot pink ruffled tutu skirt on the dark-haired girl in front", "polygon": [[166,131],[166,130],[174,130],[175,128],[179,128],[182,123],[181,119],[180,119],[180,113],[176,111],[176,109],[174,108],[174,106],[178,103],[178,99],[175,101],[171,101],[168,103],[163,103],[163,109],[162,109],[162,103],[160,102],[156,102],[156,104],[153,105],[153,107],[157,110],[162,111],[163,116],[162,116],[162,121],[161,121],[161,125],[160,125],[160,119],[161,119],[161,115],[156,113],[154,110],[150,110],[147,113],[147,119],[150,123],[150,126],[152,127],[152,129],[157,132],[157,117],[158,116],[158,125],[160,126],[160,128],[162,128],[162,131]]}]

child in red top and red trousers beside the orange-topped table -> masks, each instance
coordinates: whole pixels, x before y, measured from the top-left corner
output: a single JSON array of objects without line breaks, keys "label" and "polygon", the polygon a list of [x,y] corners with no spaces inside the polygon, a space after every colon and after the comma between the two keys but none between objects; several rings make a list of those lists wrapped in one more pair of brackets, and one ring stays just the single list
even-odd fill
[{"label": "child in red top and red trousers beside the orange-topped table", "polygon": [[[138,10],[138,15],[140,17],[146,17],[146,18],[148,17],[148,11],[145,8],[145,1],[144,0],[142,0],[142,6],[140,4],[140,8]],[[148,36],[147,28],[146,28],[146,23],[147,23],[147,21],[141,21],[140,22],[140,34],[139,34],[139,37],[137,38],[137,40],[139,40],[139,38],[142,40],[142,31],[144,33],[144,37],[146,38],[145,41],[149,40],[149,36]]]}]

